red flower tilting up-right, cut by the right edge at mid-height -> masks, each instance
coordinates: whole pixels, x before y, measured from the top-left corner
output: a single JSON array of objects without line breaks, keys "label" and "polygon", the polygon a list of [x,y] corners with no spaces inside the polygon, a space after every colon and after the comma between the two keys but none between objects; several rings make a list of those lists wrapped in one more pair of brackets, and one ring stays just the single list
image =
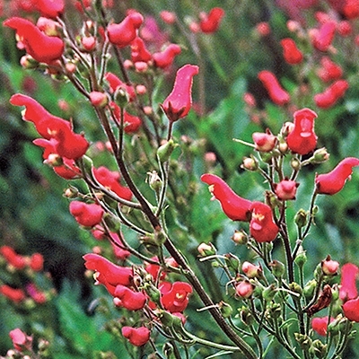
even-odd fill
[{"label": "red flower tilting up-right, cut by the right edge at mid-height", "polygon": [[337,167],[325,174],[316,174],[315,184],[317,193],[322,195],[335,195],[339,192],[346,180],[350,179],[353,167],[359,166],[359,160],[355,157],[347,157],[337,164]]}]

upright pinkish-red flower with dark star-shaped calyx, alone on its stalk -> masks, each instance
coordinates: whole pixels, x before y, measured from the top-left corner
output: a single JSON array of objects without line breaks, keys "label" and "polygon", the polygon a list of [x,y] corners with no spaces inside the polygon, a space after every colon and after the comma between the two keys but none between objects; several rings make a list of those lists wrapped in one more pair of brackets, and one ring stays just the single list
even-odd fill
[{"label": "upright pinkish-red flower with dark star-shaped calyx, alone on its stalk", "polygon": [[170,121],[174,122],[187,116],[192,106],[193,76],[198,74],[196,65],[185,65],[177,71],[173,90],[161,107]]}]

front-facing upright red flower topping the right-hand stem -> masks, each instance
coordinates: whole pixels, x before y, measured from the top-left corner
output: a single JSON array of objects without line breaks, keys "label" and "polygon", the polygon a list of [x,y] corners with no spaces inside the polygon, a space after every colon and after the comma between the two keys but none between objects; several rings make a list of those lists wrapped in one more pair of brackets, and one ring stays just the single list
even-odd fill
[{"label": "front-facing upright red flower topping the right-hand stem", "polygon": [[315,149],[317,136],[314,133],[314,119],[317,114],[311,109],[294,112],[294,128],[287,136],[286,143],[293,153],[307,154]]}]

